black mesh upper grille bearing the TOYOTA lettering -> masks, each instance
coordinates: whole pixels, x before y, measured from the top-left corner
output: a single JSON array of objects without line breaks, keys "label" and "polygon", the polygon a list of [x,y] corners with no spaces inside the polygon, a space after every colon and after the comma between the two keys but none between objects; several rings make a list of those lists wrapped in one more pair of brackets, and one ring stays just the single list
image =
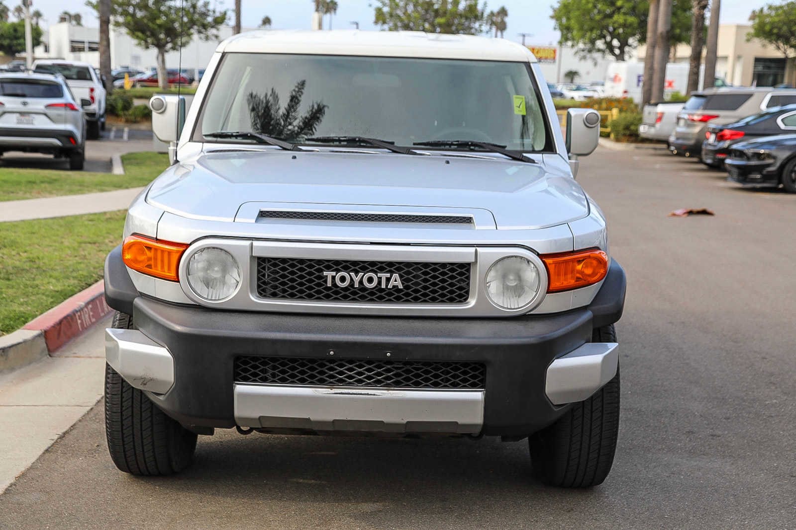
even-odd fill
[{"label": "black mesh upper grille bearing the TOYOTA lettering", "polygon": [[[257,295],[277,300],[464,304],[470,298],[470,268],[470,263],[259,257]],[[334,278],[330,282],[325,272],[355,276],[358,273],[388,274],[389,277],[380,277],[375,287],[366,287],[361,279],[355,285],[349,277],[349,284],[340,287]],[[400,288],[397,284],[389,287],[394,274],[400,278]]]}]

